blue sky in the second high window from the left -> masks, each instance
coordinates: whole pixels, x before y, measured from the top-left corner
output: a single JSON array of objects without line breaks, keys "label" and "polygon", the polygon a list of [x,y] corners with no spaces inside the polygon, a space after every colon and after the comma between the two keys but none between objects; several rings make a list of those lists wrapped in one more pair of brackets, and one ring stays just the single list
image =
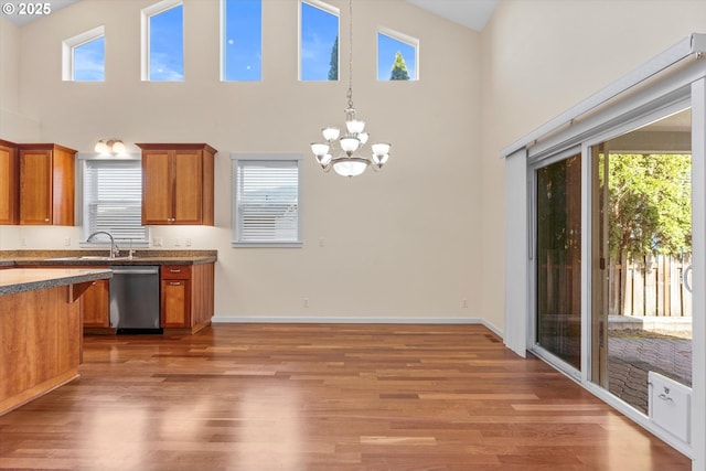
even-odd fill
[{"label": "blue sky in the second high window from the left", "polygon": [[184,7],[150,17],[150,81],[184,79]]}]

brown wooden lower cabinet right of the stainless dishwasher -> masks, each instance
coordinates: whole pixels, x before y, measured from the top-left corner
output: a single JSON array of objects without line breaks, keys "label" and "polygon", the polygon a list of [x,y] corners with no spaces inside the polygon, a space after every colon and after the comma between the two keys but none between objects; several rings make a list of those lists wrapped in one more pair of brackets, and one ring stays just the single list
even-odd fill
[{"label": "brown wooden lower cabinet right of the stainless dishwasher", "polygon": [[213,317],[214,264],[163,265],[160,269],[164,332],[195,333]]}]

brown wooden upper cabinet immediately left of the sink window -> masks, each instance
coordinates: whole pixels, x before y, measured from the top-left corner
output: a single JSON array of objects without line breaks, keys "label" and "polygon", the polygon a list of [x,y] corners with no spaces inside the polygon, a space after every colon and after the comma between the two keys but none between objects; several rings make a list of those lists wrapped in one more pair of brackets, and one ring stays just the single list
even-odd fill
[{"label": "brown wooden upper cabinet immediately left of the sink window", "polygon": [[18,144],[20,224],[74,225],[76,151],[55,143]]}]

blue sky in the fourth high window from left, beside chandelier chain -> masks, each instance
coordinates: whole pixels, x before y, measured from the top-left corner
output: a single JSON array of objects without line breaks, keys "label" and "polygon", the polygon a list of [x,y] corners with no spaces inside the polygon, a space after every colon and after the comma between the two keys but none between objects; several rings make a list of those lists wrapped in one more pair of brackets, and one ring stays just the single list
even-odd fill
[{"label": "blue sky in the fourth high window from left, beside chandelier chain", "polygon": [[302,1],[300,34],[300,79],[328,81],[331,51],[339,36],[339,17]]}]

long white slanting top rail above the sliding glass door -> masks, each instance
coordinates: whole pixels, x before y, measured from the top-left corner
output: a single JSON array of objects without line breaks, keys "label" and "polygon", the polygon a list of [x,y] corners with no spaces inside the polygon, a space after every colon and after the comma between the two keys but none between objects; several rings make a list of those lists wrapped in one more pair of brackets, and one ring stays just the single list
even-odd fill
[{"label": "long white slanting top rail above the sliding glass door", "polygon": [[611,83],[596,94],[564,111],[561,115],[513,142],[501,150],[501,157],[507,157],[521,148],[536,143],[543,137],[556,131],[563,126],[571,125],[580,116],[596,109],[608,100],[641,84],[648,78],[683,61],[684,58],[706,52],[706,35],[692,33],[686,39],[674,44],[663,53],[648,61],[631,73]]}]

